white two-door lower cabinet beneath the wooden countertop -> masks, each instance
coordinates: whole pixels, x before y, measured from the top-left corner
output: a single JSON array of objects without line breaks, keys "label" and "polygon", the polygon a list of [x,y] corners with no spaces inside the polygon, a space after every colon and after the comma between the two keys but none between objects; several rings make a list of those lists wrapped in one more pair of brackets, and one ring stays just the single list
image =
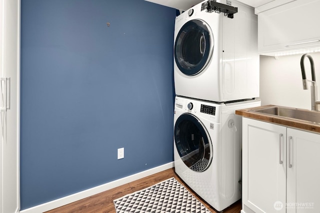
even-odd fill
[{"label": "white two-door lower cabinet beneath the wooden countertop", "polygon": [[319,213],[320,134],[242,118],[241,213]]}]

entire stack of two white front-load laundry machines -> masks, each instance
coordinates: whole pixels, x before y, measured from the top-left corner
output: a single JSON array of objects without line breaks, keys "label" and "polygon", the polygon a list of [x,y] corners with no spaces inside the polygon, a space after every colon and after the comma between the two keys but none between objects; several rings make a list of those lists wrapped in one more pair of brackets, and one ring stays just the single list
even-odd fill
[{"label": "entire stack of two white front-load laundry machines", "polygon": [[[175,173],[222,211],[241,198],[241,117],[235,110],[260,105],[259,56],[254,9],[236,0],[212,1],[175,19],[173,146]],[[223,12],[234,7],[233,18]]]}]

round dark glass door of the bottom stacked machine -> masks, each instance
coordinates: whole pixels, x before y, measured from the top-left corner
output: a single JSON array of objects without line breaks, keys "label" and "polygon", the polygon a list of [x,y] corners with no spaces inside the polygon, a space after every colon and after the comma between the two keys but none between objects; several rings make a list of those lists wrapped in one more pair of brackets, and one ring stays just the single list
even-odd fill
[{"label": "round dark glass door of the bottom stacked machine", "polygon": [[212,144],[202,123],[184,113],[174,125],[174,142],[183,163],[193,171],[205,171],[212,161]]}]

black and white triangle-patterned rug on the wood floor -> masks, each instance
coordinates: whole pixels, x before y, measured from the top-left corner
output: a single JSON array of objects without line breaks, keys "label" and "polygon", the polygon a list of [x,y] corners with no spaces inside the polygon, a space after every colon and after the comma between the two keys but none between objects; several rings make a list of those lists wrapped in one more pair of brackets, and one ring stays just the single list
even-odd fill
[{"label": "black and white triangle-patterned rug on the wood floor", "polygon": [[113,201],[116,213],[211,213],[175,178]]}]

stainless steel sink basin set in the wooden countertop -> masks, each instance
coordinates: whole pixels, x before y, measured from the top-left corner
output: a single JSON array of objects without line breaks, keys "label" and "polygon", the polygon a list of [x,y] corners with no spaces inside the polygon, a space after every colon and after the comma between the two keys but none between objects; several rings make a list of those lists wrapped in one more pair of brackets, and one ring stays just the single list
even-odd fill
[{"label": "stainless steel sink basin set in the wooden countertop", "polygon": [[269,115],[282,116],[288,119],[298,119],[302,121],[320,124],[320,112],[318,111],[310,111],[305,109],[296,109],[281,106],[273,106],[253,111]]}]

